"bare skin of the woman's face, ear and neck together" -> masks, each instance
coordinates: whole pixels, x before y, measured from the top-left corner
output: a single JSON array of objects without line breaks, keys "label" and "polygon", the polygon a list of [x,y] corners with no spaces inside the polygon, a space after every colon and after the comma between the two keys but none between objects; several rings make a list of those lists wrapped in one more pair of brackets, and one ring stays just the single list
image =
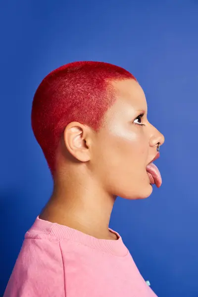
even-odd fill
[{"label": "bare skin of the woman's face, ear and neck together", "polygon": [[112,85],[117,99],[98,133],[78,122],[65,128],[53,193],[40,214],[43,220],[107,240],[117,239],[108,229],[116,197],[142,199],[152,193],[146,166],[157,153],[157,143],[164,143],[148,122],[140,85],[131,79]]}]

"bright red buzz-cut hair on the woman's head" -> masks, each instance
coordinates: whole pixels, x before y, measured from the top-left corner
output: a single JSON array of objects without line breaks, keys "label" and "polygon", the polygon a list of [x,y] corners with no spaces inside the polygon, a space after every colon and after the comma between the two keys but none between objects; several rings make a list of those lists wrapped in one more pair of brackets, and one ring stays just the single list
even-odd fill
[{"label": "bright red buzz-cut hair on the woman's head", "polygon": [[83,61],[50,72],[32,104],[32,129],[53,176],[60,136],[72,121],[99,130],[102,117],[115,101],[110,80],[135,79],[127,70],[104,62]]}]

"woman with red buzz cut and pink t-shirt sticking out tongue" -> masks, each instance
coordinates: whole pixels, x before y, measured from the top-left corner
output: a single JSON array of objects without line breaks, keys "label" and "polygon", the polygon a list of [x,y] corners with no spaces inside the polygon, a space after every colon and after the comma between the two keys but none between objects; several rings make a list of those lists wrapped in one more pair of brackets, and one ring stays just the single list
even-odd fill
[{"label": "woman with red buzz cut and pink t-shirt sticking out tongue", "polygon": [[54,188],[25,235],[4,297],[156,297],[121,236],[109,229],[117,196],[150,196],[163,135],[147,119],[128,71],[74,62],[38,87],[32,128]]}]

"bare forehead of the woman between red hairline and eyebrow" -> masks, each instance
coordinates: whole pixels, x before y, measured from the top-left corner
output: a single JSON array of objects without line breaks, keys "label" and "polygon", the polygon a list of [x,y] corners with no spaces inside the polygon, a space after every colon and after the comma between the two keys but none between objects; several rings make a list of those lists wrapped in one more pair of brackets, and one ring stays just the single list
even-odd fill
[{"label": "bare forehead of the woman between red hairline and eyebrow", "polygon": [[147,112],[147,101],[143,89],[134,79],[113,81],[116,90],[116,105],[128,106],[133,110],[145,110]]}]

